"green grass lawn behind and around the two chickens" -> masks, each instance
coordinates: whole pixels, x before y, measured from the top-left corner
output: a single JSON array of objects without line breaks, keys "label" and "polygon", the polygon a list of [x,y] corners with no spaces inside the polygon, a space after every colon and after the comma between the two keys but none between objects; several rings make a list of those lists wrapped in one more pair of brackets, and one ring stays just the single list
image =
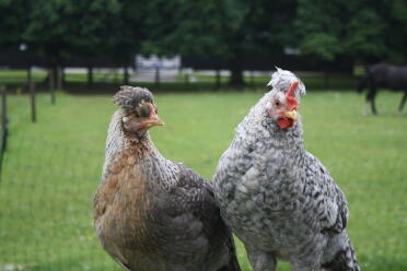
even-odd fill
[{"label": "green grass lawn behind and around the two chickens", "polygon": [[[236,125],[263,95],[228,92],[156,95],[164,128],[151,130],[167,158],[210,178]],[[400,94],[377,97],[380,116],[363,117],[363,96],[309,92],[300,111],[305,144],[329,168],[348,198],[348,232],[363,271],[407,270],[407,114]],[[9,96],[10,139],[0,182],[0,271],[120,270],[92,226],[109,96],[58,93],[37,97],[30,122],[27,96]],[[407,109],[406,109],[407,110]],[[243,270],[251,270],[239,244]],[[279,263],[278,270],[290,270]]]}]

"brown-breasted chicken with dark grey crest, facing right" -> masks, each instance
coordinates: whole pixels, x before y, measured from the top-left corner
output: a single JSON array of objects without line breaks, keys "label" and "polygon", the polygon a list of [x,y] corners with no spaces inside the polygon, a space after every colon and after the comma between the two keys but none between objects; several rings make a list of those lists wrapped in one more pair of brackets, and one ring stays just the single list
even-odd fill
[{"label": "brown-breasted chicken with dark grey crest, facing right", "polygon": [[239,271],[211,182],[164,158],[149,137],[163,125],[152,94],[123,86],[114,102],[94,199],[103,248],[131,271]]}]

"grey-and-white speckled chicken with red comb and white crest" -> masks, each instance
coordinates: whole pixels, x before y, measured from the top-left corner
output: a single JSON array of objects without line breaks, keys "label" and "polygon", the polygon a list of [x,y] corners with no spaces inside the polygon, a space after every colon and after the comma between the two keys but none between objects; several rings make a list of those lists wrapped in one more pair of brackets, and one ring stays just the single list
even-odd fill
[{"label": "grey-and-white speckled chicken with red comb and white crest", "polygon": [[281,69],[269,85],[219,161],[221,214],[256,271],[276,270],[277,259],[295,271],[358,271],[345,196],[304,149],[296,107],[305,86]]}]

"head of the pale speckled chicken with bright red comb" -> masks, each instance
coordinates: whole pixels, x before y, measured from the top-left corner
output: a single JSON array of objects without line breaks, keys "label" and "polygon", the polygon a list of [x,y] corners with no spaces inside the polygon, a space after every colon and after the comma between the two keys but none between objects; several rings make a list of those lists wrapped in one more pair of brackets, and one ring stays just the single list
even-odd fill
[{"label": "head of the pale speckled chicken with bright red comb", "polygon": [[277,68],[268,85],[272,85],[267,116],[280,129],[292,127],[298,119],[300,94],[305,94],[302,82],[291,72]]}]

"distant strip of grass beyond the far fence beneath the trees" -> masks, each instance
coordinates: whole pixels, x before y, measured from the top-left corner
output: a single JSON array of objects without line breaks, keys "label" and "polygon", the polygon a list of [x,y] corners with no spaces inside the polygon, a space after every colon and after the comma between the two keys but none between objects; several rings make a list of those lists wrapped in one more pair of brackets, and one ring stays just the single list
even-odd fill
[{"label": "distant strip of grass beyond the far fence beneath the trees", "polygon": [[[309,89],[326,90],[326,89],[351,89],[356,85],[359,76],[363,75],[363,70],[356,67],[352,74],[329,73],[329,72],[314,72],[314,73],[300,73],[301,79]],[[130,78],[137,73],[130,69]],[[271,73],[271,72],[270,72]],[[103,91],[112,92],[112,86],[120,84],[124,81],[124,74],[119,73],[119,69],[104,69],[93,71],[92,86],[88,82],[88,73],[82,70],[80,72],[65,71],[63,73],[63,90],[71,93],[101,93]],[[26,70],[1,70],[0,69],[0,85],[5,85],[8,89],[15,89],[19,92],[27,92],[27,71]],[[195,83],[188,83],[188,79],[195,78]],[[47,82],[47,73],[44,69],[36,69],[32,71],[32,79],[36,83],[36,89],[40,91],[48,91],[49,85]],[[246,74],[244,76],[246,86],[248,87],[263,87],[265,82],[270,80],[269,75],[254,75]],[[181,72],[176,76],[175,82],[138,82],[139,85],[144,87],[152,87],[154,90],[161,89],[165,91],[208,91],[220,89],[230,90],[229,85],[230,75],[220,76],[220,85],[217,85],[217,78],[201,71],[196,71],[191,74]]]}]

